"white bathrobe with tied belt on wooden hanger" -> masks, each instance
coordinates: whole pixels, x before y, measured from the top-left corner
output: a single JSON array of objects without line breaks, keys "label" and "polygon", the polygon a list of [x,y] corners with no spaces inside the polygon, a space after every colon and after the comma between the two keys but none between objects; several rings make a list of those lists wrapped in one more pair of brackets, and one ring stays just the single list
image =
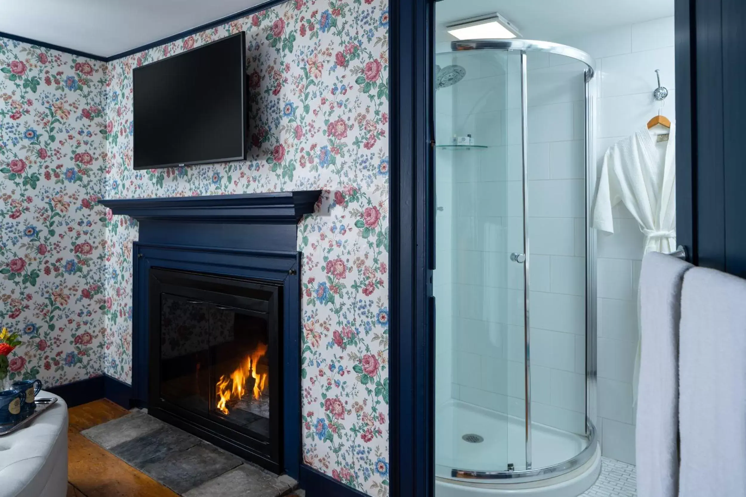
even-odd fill
[{"label": "white bathrobe with tied belt on wooden hanger", "polygon": [[[665,150],[656,148],[656,134],[642,127],[629,138],[612,145],[604,154],[598,180],[593,227],[614,232],[612,207],[622,202],[645,234],[644,252],[676,250],[676,134],[668,131]],[[638,329],[640,315],[637,297]],[[637,399],[640,341],[637,341],[633,399]]]}]

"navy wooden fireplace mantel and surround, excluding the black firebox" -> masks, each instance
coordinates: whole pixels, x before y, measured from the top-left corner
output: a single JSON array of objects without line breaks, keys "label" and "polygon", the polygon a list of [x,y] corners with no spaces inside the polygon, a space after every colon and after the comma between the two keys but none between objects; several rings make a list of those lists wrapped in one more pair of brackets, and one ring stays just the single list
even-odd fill
[{"label": "navy wooden fireplace mantel and surround, excluding the black firebox", "polygon": [[[301,469],[301,253],[298,221],[313,214],[321,190],[278,193],[101,200],[115,215],[139,222],[132,250],[132,394],[151,397],[150,288],[154,270],[175,270],[271,282],[282,291],[282,435],[278,461],[240,452],[230,438],[213,441],[275,472]],[[154,349],[157,350],[157,349]],[[157,352],[155,352],[157,353]],[[157,390],[153,390],[157,391]],[[154,416],[172,422],[149,406]],[[172,424],[175,424],[172,422]],[[202,436],[199,426],[186,431]],[[254,456],[255,458],[252,458]]]}]

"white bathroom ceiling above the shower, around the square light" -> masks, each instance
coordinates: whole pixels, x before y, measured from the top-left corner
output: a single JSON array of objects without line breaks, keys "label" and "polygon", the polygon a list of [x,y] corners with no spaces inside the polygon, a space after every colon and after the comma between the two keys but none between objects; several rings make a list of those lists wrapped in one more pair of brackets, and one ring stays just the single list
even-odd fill
[{"label": "white bathroom ceiling above the shower, around the square light", "polygon": [[445,25],[486,13],[501,13],[521,38],[561,41],[573,34],[601,31],[674,15],[674,0],[442,0],[436,4],[437,40],[455,39]]}]

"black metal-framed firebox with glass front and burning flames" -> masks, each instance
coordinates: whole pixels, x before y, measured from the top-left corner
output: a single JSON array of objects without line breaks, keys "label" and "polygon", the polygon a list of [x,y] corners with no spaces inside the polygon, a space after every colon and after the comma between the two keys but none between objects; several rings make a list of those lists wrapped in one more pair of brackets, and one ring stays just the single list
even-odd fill
[{"label": "black metal-framed firebox with glass front and burning flames", "polygon": [[149,409],[281,467],[283,288],[151,268]]}]

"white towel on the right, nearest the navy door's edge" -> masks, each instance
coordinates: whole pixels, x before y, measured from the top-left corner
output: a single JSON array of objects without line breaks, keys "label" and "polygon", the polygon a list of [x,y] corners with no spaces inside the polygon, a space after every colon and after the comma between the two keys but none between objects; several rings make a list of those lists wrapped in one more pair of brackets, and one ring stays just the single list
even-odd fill
[{"label": "white towel on the right, nearest the navy door's edge", "polygon": [[746,280],[684,276],[679,393],[679,496],[745,496]]}]

